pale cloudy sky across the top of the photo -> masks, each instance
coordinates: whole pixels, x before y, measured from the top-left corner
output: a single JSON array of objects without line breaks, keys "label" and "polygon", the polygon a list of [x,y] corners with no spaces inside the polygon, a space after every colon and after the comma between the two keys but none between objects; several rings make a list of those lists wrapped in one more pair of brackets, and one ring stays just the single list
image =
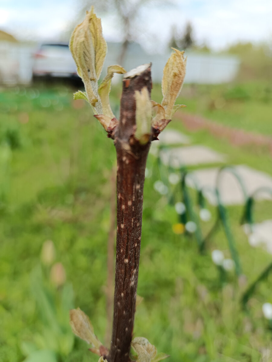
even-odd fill
[{"label": "pale cloudy sky across the top of the photo", "polygon": [[[272,0],[173,1],[174,7],[157,6],[142,11],[140,24],[145,31],[139,39],[145,47],[154,50],[156,44],[162,49],[172,26],[183,29],[188,20],[193,24],[197,42],[205,41],[214,49],[238,40],[272,44]],[[0,0],[0,29],[21,39],[58,40],[77,17],[78,3],[79,0]],[[108,41],[120,40],[122,33],[114,16],[102,16],[102,26]]]}]

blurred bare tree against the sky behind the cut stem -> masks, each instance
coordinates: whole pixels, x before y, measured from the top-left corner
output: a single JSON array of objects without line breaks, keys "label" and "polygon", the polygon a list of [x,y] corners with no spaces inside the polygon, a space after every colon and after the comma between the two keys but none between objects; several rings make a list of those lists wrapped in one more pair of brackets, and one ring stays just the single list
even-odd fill
[{"label": "blurred bare tree against the sky behind the cut stem", "polygon": [[116,26],[123,29],[123,40],[118,63],[124,65],[129,42],[137,42],[139,35],[144,33],[140,24],[141,11],[144,8],[154,8],[158,5],[172,5],[171,0],[84,0],[79,17],[83,17],[86,10],[94,5],[100,14],[116,14]]}]

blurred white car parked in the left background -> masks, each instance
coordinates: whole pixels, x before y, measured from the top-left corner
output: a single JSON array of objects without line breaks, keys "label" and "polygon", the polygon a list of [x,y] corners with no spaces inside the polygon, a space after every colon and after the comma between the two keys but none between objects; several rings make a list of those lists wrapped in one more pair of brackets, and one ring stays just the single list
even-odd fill
[{"label": "blurred white car parked in the left background", "polygon": [[42,44],[34,54],[33,76],[77,77],[77,67],[68,44]]}]

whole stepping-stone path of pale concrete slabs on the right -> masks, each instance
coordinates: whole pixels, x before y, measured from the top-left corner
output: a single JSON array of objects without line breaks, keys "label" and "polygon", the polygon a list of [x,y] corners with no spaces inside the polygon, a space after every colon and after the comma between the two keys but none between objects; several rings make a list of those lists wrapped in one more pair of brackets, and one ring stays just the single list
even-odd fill
[{"label": "whole stepping-stone path of pale concrete slabs on the right", "polygon": [[[159,151],[162,162],[165,165],[170,164],[174,168],[179,168],[181,165],[223,164],[226,161],[226,156],[213,151],[211,148],[202,145],[188,146],[189,138],[178,131],[165,130],[160,143],[164,146],[175,145],[175,147],[164,148]],[[176,147],[178,144],[179,147]],[[158,146],[152,148],[152,153],[158,153]],[[197,180],[198,187],[206,189],[204,195],[212,205],[217,205],[214,190],[217,185],[219,169],[218,166],[196,169],[190,172],[191,178],[186,178],[190,187],[194,188],[195,182],[193,180]],[[233,170],[240,177],[246,195],[251,195],[256,189],[263,187],[272,189],[272,177],[265,172],[260,172],[247,165],[235,165]],[[223,177],[220,178],[219,190],[222,203],[224,205],[244,205],[246,200],[243,189],[234,174],[225,170],[221,176]],[[256,199],[271,200],[272,196],[267,192],[259,192]],[[252,232],[249,231],[248,225],[244,225],[243,228],[252,247],[263,246],[272,254],[272,220],[254,224]]]}]

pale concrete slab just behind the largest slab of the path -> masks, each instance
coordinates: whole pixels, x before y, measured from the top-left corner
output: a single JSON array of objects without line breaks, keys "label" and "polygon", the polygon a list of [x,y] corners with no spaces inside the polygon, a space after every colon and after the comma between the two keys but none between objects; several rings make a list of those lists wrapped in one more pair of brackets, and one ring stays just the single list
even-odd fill
[{"label": "pale concrete slab just behind the largest slab of the path", "polygon": [[160,152],[160,157],[165,165],[172,167],[223,163],[226,161],[226,156],[201,145],[168,148]]}]

